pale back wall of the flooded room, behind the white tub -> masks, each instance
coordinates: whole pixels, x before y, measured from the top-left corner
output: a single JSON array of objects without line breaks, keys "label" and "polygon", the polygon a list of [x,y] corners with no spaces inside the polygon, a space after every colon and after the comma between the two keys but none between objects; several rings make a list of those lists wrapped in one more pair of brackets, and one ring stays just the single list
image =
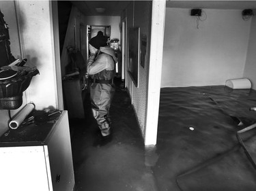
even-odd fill
[{"label": "pale back wall of the flooded room, behind the white tub", "polygon": [[207,18],[197,29],[190,10],[167,8],[161,87],[224,85],[243,77],[251,22],[242,20],[242,10],[203,12]]}]

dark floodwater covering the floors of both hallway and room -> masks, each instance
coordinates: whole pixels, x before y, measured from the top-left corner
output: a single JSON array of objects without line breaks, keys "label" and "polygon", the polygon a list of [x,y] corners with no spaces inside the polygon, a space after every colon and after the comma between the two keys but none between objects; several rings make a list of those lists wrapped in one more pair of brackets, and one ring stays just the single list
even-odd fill
[{"label": "dark floodwater covering the floors of both hallway and room", "polygon": [[[225,86],[162,88],[156,147],[143,137],[126,91],[111,106],[113,134],[102,139],[85,94],[85,120],[70,120],[76,189],[255,190],[256,169],[236,132],[256,122],[256,91]],[[242,133],[256,160],[256,128]]]}]

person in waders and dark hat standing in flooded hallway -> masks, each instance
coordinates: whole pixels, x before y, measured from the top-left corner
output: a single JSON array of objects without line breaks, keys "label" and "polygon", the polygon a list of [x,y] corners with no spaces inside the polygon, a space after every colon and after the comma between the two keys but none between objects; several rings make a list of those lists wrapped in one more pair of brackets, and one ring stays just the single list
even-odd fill
[{"label": "person in waders and dark hat standing in flooded hallway", "polygon": [[115,93],[115,52],[106,46],[106,38],[97,35],[89,41],[87,73],[91,77],[91,109],[103,137],[111,134],[109,108]]}]

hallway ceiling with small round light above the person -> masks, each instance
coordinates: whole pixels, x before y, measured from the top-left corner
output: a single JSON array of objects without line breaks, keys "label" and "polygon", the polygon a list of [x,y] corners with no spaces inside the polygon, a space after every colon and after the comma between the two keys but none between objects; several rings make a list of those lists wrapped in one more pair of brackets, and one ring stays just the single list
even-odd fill
[{"label": "hallway ceiling with small round light above the person", "polygon": [[[132,1],[70,1],[85,16],[121,16]],[[99,11],[96,9],[100,8]],[[101,9],[103,12],[100,12]]]}]

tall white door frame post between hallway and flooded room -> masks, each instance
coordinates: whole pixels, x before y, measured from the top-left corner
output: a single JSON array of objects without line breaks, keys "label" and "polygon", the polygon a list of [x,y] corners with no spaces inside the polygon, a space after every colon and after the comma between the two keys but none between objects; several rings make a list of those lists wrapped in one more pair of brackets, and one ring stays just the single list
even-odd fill
[{"label": "tall white door frame post between hallway and flooded room", "polygon": [[145,145],[156,145],[160,102],[162,51],[165,33],[166,1],[153,0],[150,40],[150,68],[147,89]]}]

